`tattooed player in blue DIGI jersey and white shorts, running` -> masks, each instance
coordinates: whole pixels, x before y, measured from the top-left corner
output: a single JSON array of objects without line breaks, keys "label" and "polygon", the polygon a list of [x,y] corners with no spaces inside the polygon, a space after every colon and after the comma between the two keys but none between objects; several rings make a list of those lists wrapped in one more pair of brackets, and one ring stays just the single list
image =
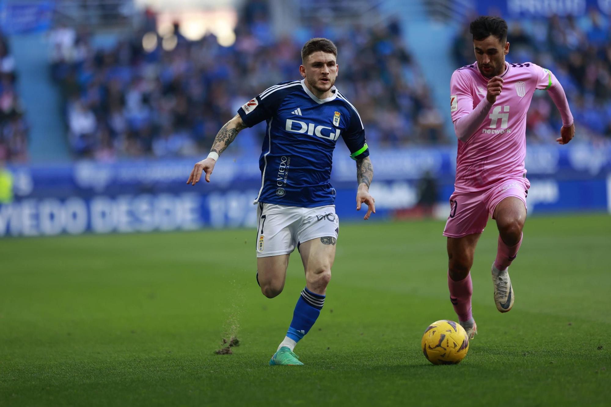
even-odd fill
[{"label": "tattooed player in blue DIGI jersey and white shorts, running", "polygon": [[302,365],[295,345],[312,328],[323,308],[339,219],[335,189],[329,182],[337,139],[342,136],[356,160],[356,209],[367,205],[367,220],[375,213],[369,194],[373,166],[359,113],[335,88],[337,48],[331,40],[305,43],[299,67],[301,81],[280,82],[246,102],[214,139],[208,158],[195,164],[187,183],[206,182],[219,155],[246,127],[266,120],[267,131],[259,158],[262,173],[258,205],[257,282],[263,295],[282,292],[288,257],[298,248],[305,270],[305,288],[293,312],[287,335],[270,365]]}]

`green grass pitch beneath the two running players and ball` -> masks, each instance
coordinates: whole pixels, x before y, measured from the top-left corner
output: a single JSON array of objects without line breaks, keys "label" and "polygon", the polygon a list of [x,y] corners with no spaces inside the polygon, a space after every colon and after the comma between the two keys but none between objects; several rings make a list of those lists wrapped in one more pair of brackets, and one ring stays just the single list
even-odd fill
[{"label": "green grass pitch beneath the two running players and ball", "polygon": [[[459,365],[420,350],[455,320],[443,222],[343,224],[327,300],[269,367],[304,277],[267,299],[254,230],[0,242],[0,406],[609,405],[611,216],[535,217],[492,300],[493,223],[472,270],[480,334]],[[235,334],[233,354],[216,355]]]}]

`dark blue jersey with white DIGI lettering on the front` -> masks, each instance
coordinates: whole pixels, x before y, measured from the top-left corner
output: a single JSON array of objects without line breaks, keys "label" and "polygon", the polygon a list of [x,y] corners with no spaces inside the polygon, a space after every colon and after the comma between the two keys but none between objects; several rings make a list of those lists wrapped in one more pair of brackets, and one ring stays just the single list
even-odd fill
[{"label": "dark blue jersey with white DIGI lettering on the front", "polygon": [[340,136],[354,160],[369,155],[359,113],[334,87],[319,99],[302,81],[280,82],[248,101],[238,114],[247,127],[267,122],[255,202],[320,207],[335,202],[331,161]]}]

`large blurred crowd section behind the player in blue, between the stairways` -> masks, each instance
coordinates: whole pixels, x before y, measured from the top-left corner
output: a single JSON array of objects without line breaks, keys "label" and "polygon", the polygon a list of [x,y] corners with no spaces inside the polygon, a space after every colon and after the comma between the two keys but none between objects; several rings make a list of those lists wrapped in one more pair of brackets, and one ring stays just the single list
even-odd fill
[{"label": "large blurred crowd section behind the player in blue, between the stairways", "polygon": [[[75,155],[112,160],[207,152],[245,101],[277,82],[301,79],[301,46],[312,37],[336,43],[336,85],[359,110],[368,141],[397,146],[442,139],[442,117],[397,21],[348,29],[319,22],[278,38],[268,7],[247,1],[236,41],[227,47],[212,34],[188,41],[175,24],[174,48],[164,50],[161,37],[149,34],[156,46],[145,50],[143,38],[156,28],[150,12],[133,36],[106,48],[92,46],[86,30],[54,30],[53,78],[64,95]],[[264,134],[264,125],[244,130],[232,150],[258,150]]]}]

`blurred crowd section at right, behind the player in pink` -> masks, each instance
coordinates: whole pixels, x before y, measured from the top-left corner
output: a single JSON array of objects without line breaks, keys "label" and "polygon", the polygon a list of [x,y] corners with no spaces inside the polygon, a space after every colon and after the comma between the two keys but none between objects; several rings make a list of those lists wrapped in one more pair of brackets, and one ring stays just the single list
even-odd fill
[{"label": "blurred crowd section at right, behind the player in pink", "polygon": [[[609,19],[596,9],[580,18],[508,21],[509,62],[535,62],[551,70],[565,89],[580,139],[611,139],[611,37]],[[455,40],[460,66],[475,60],[469,24]],[[552,142],[562,120],[547,92],[535,92],[527,116],[527,140]]]}]

